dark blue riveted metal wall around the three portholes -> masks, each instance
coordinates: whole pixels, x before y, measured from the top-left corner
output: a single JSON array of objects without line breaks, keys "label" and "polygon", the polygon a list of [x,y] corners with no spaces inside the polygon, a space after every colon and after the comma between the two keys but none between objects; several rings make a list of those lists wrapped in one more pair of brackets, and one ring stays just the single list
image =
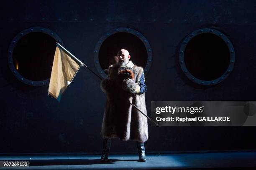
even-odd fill
[{"label": "dark blue riveted metal wall around the three portholes", "polygon": [[[65,47],[92,70],[95,45],[109,30],[141,32],[152,48],[146,75],[147,110],[151,100],[255,100],[256,1],[6,1],[0,26],[0,152],[100,152],[105,95],[100,81],[81,69],[60,103],[48,86],[25,85],[8,66],[8,47],[22,30],[43,27],[56,32]],[[197,85],[182,72],[179,48],[200,28],[229,37],[236,63],[218,85]],[[218,65],[216,65],[218,67]],[[147,151],[256,149],[255,127],[149,126]],[[133,142],[114,140],[113,152],[136,151]]]}]

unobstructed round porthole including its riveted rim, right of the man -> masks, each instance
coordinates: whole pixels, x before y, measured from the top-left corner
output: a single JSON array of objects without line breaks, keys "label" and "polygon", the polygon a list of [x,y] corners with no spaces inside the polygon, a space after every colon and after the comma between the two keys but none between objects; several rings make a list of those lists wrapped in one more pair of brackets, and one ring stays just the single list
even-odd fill
[{"label": "unobstructed round porthole including its riveted rim, right of the man", "polygon": [[233,70],[235,52],[223,33],[214,29],[192,32],[182,42],[179,62],[184,74],[201,85],[215,85]]}]

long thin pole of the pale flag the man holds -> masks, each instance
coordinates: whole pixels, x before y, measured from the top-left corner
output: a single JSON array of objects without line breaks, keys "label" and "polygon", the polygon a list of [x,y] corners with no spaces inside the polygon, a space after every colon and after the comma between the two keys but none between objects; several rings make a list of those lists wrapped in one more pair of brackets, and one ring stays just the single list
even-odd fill
[{"label": "long thin pole of the pale flag the man holds", "polygon": [[[66,48],[62,47],[62,45],[60,45],[58,42],[56,42],[56,45],[58,45],[62,50],[64,50],[70,57],[72,57],[72,59],[74,59],[77,64],[86,67],[88,70],[90,70],[94,75],[96,75],[98,78],[100,78],[100,80],[103,80],[102,77],[100,77],[99,75],[97,75],[94,71],[92,71],[89,67],[87,67],[87,65],[85,65],[83,62],[81,62],[77,57],[75,57],[71,52],[69,52]],[[135,105],[133,105],[133,103],[131,103],[130,101],[127,100],[127,102],[129,102],[134,108],[136,108],[136,110],[138,110],[139,112],[141,112],[144,116],[146,116],[148,118],[148,120],[150,120],[151,122],[153,122],[156,126],[158,126],[158,124],[156,122],[154,122],[154,120],[152,120],[150,117],[148,117],[148,115],[145,115],[141,110],[138,109],[138,107],[136,107]]]}]

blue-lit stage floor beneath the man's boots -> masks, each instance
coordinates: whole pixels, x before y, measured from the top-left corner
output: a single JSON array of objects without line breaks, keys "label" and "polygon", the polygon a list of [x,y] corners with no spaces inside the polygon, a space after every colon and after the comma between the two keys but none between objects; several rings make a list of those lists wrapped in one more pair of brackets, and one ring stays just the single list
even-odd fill
[{"label": "blue-lit stage floor beneath the man's boots", "polygon": [[28,160],[29,167],[1,169],[80,170],[80,169],[250,169],[256,170],[256,151],[223,153],[147,154],[146,162],[138,155],[110,155],[108,163],[100,163],[100,155],[0,155],[0,161]]}]

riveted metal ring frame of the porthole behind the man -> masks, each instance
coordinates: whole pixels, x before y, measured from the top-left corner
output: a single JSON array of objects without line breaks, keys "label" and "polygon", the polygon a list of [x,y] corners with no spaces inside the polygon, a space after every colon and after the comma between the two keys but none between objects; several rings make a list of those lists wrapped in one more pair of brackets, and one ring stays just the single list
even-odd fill
[{"label": "riveted metal ring frame of the porthole behind the man", "polygon": [[133,30],[132,28],[125,28],[125,27],[121,27],[121,28],[115,28],[112,29],[110,31],[108,31],[107,33],[105,33],[104,35],[102,35],[102,37],[100,37],[100,39],[98,40],[98,42],[95,45],[95,50],[94,50],[94,64],[95,67],[97,69],[97,71],[99,72],[100,76],[102,78],[107,78],[108,75],[102,70],[101,66],[100,66],[100,62],[99,62],[99,51],[100,51],[100,47],[102,45],[102,43],[111,35],[115,34],[115,33],[119,33],[119,32],[127,32],[127,33],[131,33],[132,35],[135,35],[136,37],[138,37],[143,44],[145,45],[145,48],[147,50],[147,55],[148,55],[148,59],[147,59],[147,63],[146,63],[146,67],[144,68],[144,73],[145,75],[148,73],[150,67],[151,67],[151,63],[152,63],[152,49],[151,46],[148,42],[148,40],[146,39],[146,37],[144,37],[141,32],[138,32],[136,30]]}]

